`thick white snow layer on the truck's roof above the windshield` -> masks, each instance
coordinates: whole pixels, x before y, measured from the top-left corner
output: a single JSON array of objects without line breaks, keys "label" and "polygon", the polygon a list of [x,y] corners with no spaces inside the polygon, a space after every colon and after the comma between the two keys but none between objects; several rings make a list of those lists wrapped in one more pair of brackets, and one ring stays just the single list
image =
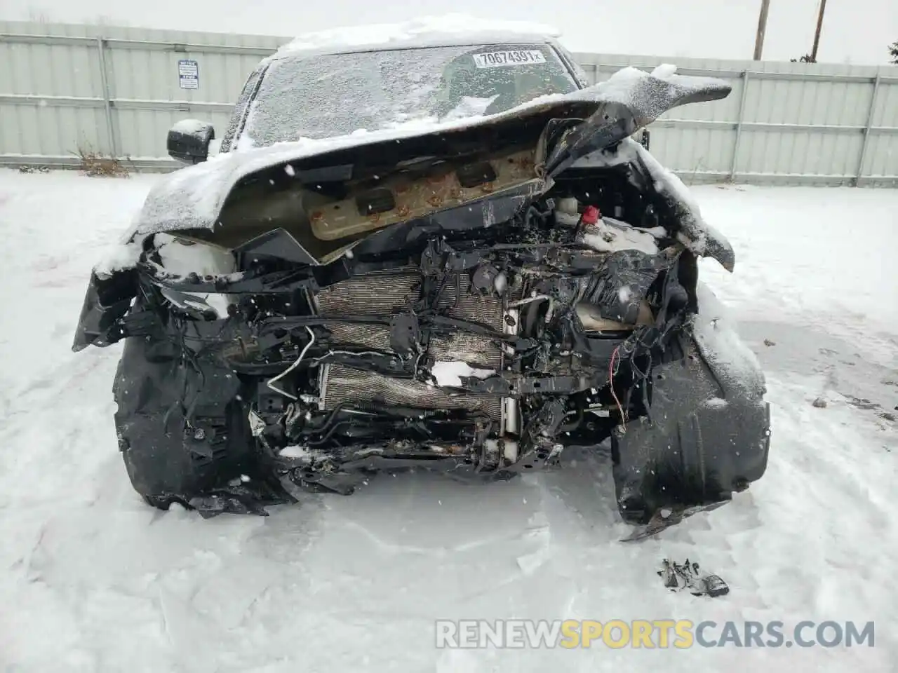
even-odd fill
[{"label": "thick white snow layer on the truck's roof above the windshield", "polygon": [[305,33],[279,48],[275,57],[303,52],[339,54],[472,42],[493,44],[521,39],[549,41],[559,35],[557,29],[540,23],[480,19],[468,14],[449,13],[421,16],[401,23],[375,23]]}]

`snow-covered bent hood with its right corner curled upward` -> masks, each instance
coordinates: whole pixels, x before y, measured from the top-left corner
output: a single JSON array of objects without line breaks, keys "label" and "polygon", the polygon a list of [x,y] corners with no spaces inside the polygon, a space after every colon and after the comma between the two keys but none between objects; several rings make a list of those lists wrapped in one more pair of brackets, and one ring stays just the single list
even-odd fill
[{"label": "snow-covered bent hood with its right corner curled upward", "polygon": [[[603,83],[577,92],[542,96],[514,109],[487,117],[452,122],[418,121],[374,132],[359,130],[326,140],[304,139],[269,147],[219,154],[208,162],[177,170],[158,182],[146,197],[128,238],[156,232],[213,229],[231,190],[262,170],[314,160],[326,164],[327,155],[396,144],[434,136],[435,141],[496,129],[506,131],[522,123],[549,125],[570,120],[545,148],[545,173],[552,177],[596,150],[619,143],[668,109],[725,98],[731,87],[710,77],[675,74],[674,66],[659,66],[651,74],[624,68]],[[345,161],[344,161],[345,163]]]}]

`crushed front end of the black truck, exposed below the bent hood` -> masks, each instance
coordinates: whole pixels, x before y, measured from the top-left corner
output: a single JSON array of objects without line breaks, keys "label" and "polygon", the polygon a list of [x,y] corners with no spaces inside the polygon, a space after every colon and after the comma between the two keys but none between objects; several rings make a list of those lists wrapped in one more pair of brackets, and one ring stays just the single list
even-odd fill
[{"label": "crushed front end of the black truck, exposed below the bent hood", "polygon": [[622,518],[655,525],[760,478],[763,377],[698,283],[697,257],[732,268],[732,249],[637,143],[562,157],[577,136],[550,122],[357,149],[349,177],[339,157],[260,171],[216,230],[151,233],[136,267],[94,274],[76,347],[128,337],[136,490],[262,513],[380,470],[508,479],[610,440]]}]

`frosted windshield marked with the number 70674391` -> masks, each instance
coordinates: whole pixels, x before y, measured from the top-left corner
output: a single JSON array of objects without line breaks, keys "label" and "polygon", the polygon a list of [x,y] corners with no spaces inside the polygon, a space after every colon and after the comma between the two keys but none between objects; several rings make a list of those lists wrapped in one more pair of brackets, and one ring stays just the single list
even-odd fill
[{"label": "frosted windshield marked with the number 70674391", "polygon": [[491,115],[575,90],[546,44],[280,58],[263,76],[237,148]]}]

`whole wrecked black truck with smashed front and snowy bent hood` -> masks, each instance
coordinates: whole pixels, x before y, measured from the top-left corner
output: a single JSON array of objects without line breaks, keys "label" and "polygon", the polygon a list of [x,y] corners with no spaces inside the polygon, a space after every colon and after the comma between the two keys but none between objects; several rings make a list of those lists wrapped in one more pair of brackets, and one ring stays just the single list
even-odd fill
[{"label": "whole wrecked black truck with smashed front and snowy bent hood", "polygon": [[[652,530],[770,445],[764,377],[698,281],[730,244],[630,136],[726,97],[553,39],[282,48],[222,138],[188,120],[75,350],[124,339],[115,424],[147,503],[266,513],[380,470],[508,479],[610,441]],[[364,129],[364,130],[357,130]]]}]

